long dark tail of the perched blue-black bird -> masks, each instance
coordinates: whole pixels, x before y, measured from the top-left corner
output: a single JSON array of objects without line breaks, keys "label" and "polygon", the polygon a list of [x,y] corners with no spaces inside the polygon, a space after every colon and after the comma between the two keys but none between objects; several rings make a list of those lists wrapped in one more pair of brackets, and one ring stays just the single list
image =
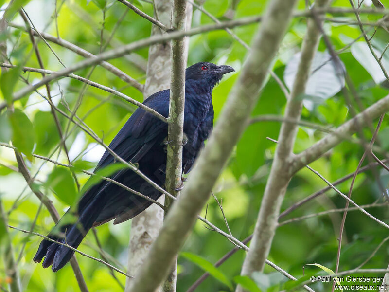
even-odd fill
[{"label": "long dark tail of the perched blue-black bird", "polygon": [[[69,210],[64,217],[59,220],[53,231],[47,237],[55,241],[68,244],[73,248],[77,248],[87,235],[90,228],[92,228],[93,223],[104,207],[104,202],[99,201],[98,199],[99,198],[94,198],[94,200],[88,204],[85,209],[79,212],[79,217],[72,220],[73,222],[76,221],[75,223],[69,224],[69,218],[73,217],[70,215],[71,210]],[[48,268],[52,265],[53,272],[56,272],[70,261],[73,254],[74,251],[70,248],[47,239],[43,239],[34,256],[34,261],[39,263],[43,257],[45,257],[42,263],[43,268]]]}]

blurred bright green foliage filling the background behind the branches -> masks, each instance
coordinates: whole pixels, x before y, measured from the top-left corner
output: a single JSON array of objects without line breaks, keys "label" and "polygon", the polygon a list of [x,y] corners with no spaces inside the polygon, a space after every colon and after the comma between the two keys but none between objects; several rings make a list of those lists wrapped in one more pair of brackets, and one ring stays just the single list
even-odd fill
[{"label": "blurred bright green foliage filling the background behind the branches", "polygon": [[[368,4],[366,2],[362,5],[362,8],[369,7],[366,6]],[[389,1],[382,2],[386,7],[389,5]],[[134,1],[134,4],[145,13],[153,15],[153,7],[148,1]],[[56,19],[55,6],[58,12]],[[332,3],[332,6],[350,8],[350,3],[348,0],[336,0]],[[265,9],[265,1],[206,0],[203,7],[220,20],[227,20],[231,15],[233,18],[242,18],[262,14]],[[128,44],[150,36],[151,24],[132,11],[124,16],[121,23],[118,22],[125,9],[123,4],[114,0],[32,0],[25,6],[26,12],[38,30],[45,30],[53,36],[57,36],[58,32],[59,37],[93,54],[98,54],[101,47],[105,45],[109,50],[121,44]],[[299,1],[298,9],[305,9],[305,1]],[[327,17],[355,21],[353,14],[328,15]],[[377,21],[380,16],[373,17],[361,14],[361,18],[362,21],[372,22]],[[306,33],[306,21],[306,18],[294,18],[283,39],[273,68],[281,79],[283,79],[286,64],[293,55],[301,50],[301,42]],[[24,25],[18,14],[15,15],[12,22]],[[58,27],[56,27],[56,23]],[[208,23],[212,23],[212,20],[195,9],[192,26]],[[251,24],[236,27],[233,32],[249,44],[259,25]],[[337,127],[352,117],[351,108],[356,112],[363,110],[387,95],[389,87],[388,83],[382,79],[382,72],[379,71],[379,67],[371,59],[372,56],[366,48],[363,37],[355,42],[355,39],[361,36],[356,25],[327,20],[324,29],[335,50],[339,52],[339,57],[354,86],[354,88],[347,87],[347,89],[357,92],[359,99],[356,100],[353,97],[348,102],[342,91],[331,98],[322,99],[320,102],[317,102],[313,97],[314,106],[309,109],[304,108],[302,119],[328,127]],[[366,26],[369,37],[372,37],[374,29],[374,27]],[[389,35],[381,28],[376,29],[377,32],[372,37],[371,42],[381,55],[388,44]],[[111,34],[113,34],[113,37],[107,44],[106,41],[110,39]],[[103,36],[103,39],[101,39],[101,36]],[[10,28],[7,35],[2,36],[1,39],[4,39],[4,37],[7,38],[8,55],[13,64],[39,67],[29,36],[25,32]],[[83,59],[59,45],[53,43],[50,43],[50,45],[66,66]],[[39,41],[38,48],[46,69],[55,71],[63,68],[44,42]],[[326,46],[322,40],[319,44],[319,51],[326,51]],[[134,53],[137,55],[132,55],[131,58],[135,58],[137,64],[143,65],[135,65],[130,61],[130,57],[114,59],[110,63],[144,83],[144,66],[147,60],[148,48],[142,48]],[[215,123],[217,123],[218,115],[239,75],[246,54],[247,50],[223,30],[190,37],[188,64],[211,61],[217,64],[229,64],[236,69],[235,74],[225,76],[213,91]],[[383,59],[389,60],[388,51],[383,55]],[[386,65],[385,61],[384,64]],[[162,70],[169,69],[164,68]],[[387,70],[389,70],[389,66]],[[26,86],[25,81],[35,83],[42,78],[39,73],[24,73],[21,75],[25,78],[23,81],[18,78],[19,73],[20,71],[17,71],[17,69],[2,73],[0,103],[9,102],[13,91]],[[87,68],[76,73],[81,76],[90,74],[89,79],[95,82],[117,89],[136,100],[143,100],[141,92],[128,86],[124,81],[100,66],[97,66],[94,70]],[[126,119],[135,110],[135,107],[131,104],[93,87],[88,87],[85,94],[81,94],[84,91],[84,84],[77,80],[61,79],[59,82],[52,83],[51,89],[53,103],[65,112],[68,112],[67,107],[74,109],[77,100],[81,97],[77,116],[83,119],[97,135],[102,137],[106,144],[109,144],[124,125]],[[45,88],[40,88],[38,92],[46,96]],[[285,104],[286,99],[279,84],[275,79],[270,78],[261,92],[260,101],[253,109],[253,116],[261,114],[280,115],[283,113]],[[47,101],[36,92],[15,102],[14,107],[14,112],[3,110],[0,113],[0,141],[10,143],[12,140],[12,144],[28,157],[26,163],[32,175],[37,173],[36,182],[50,186],[49,188],[40,187],[40,190],[44,191],[49,199],[53,201],[62,215],[77,195],[76,184],[71,172],[67,168],[31,157],[31,153],[35,153],[51,157],[61,163],[67,163],[64,151],[58,151],[61,141],[50,107]],[[80,172],[80,170],[93,170],[102,154],[101,148],[96,146],[93,138],[83,134],[79,128],[74,127],[62,115],[58,114],[58,117],[61,127],[65,129],[66,145],[70,149],[70,156],[75,165],[78,181],[83,186],[88,179],[88,175]],[[376,143],[383,151],[389,150],[388,124],[389,120],[386,117]],[[376,124],[373,123],[370,126],[370,128],[363,131],[364,137],[359,138],[371,139],[372,128]],[[267,140],[266,137],[277,139],[279,129],[279,122],[259,122],[249,125],[235,147],[230,163],[214,188],[215,195],[223,201],[224,213],[231,232],[238,239],[243,240],[253,231],[267,173],[275,150],[274,142]],[[300,152],[313,145],[324,135],[325,133],[319,130],[300,127],[297,133],[295,152]],[[346,141],[331,149],[318,161],[312,163],[311,166],[327,180],[334,182],[355,171],[363,151],[364,149],[360,145]],[[383,157],[382,153],[378,155]],[[366,159],[364,165],[368,162],[369,159]],[[17,167],[17,164],[13,151],[0,146],[0,193],[2,194],[1,199],[4,207],[9,212],[9,224],[27,230],[34,225],[36,232],[47,234],[53,227],[53,220],[44,207],[36,217],[40,201],[26,186],[23,177],[14,171],[15,167]],[[382,187],[385,187],[388,182],[388,174],[385,173],[385,170],[379,168],[375,171],[360,174],[356,178],[352,199],[360,205],[382,201]],[[326,184],[315,174],[307,169],[301,170],[294,176],[289,185],[283,201],[282,211],[325,186]],[[350,181],[347,181],[338,185],[338,188],[347,193],[349,186]],[[334,191],[329,191],[318,199],[301,206],[288,215],[286,219],[334,208],[343,208],[344,205],[345,201],[342,198],[336,195]],[[226,230],[224,219],[213,198],[210,199],[207,208],[207,219]],[[385,222],[389,220],[387,208],[372,208],[368,211]],[[201,215],[204,216],[205,213],[206,209],[204,208]],[[273,241],[269,260],[297,278],[302,277],[302,266],[305,264],[319,263],[335,270],[341,215],[342,213],[333,213],[279,227]],[[36,222],[34,221],[35,217]],[[113,265],[126,270],[130,222],[115,226],[110,222],[98,227],[97,231],[101,245],[108,255],[108,260]],[[23,243],[26,243],[18,263],[22,286],[25,291],[78,291],[70,265],[54,274],[32,262],[40,237],[29,236],[16,230],[9,230],[9,233],[13,238],[12,243],[16,258],[21,252]],[[387,230],[373,220],[358,211],[349,212],[343,237],[344,245],[340,256],[340,270],[353,269],[358,266],[371,255],[387,235]],[[178,260],[177,291],[186,291],[204,273],[204,269],[212,269],[209,267],[209,263],[216,262],[233,247],[234,245],[229,240],[205,228],[202,222],[197,222],[194,232],[187,239],[183,248],[186,254],[180,256]],[[100,256],[98,246],[91,233],[88,234],[79,249],[92,256]],[[384,244],[364,267],[386,268],[389,261],[388,252],[388,245]],[[243,251],[238,251],[231,256],[220,268],[213,270],[214,277],[205,280],[197,291],[230,291],[231,283],[233,285],[240,283],[248,289],[252,289],[251,291],[279,291],[282,287],[285,289],[285,287],[288,288],[291,285],[288,284],[286,278],[280,276],[268,266],[265,267],[265,274],[253,275],[252,279],[240,277],[244,257],[245,252]],[[89,291],[122,291],[106,266],[84,256],[77,255],[77,258]],[[325,274],[318,270],[315,267],[306,267],[305,274]],[[0,279],[3,277],[2,273],[3,266],[1,262]],[[124,285],[124,275],[118,273],[115,273],[115,275]],[[373,275],[382,276],[381,274]],[[284,284],[285,282],[287,283]],[[295,284],[292,283],[292,285]],[[329,291],[330,285],[331,283],[319,282],[311,286],[316,291]]]}]

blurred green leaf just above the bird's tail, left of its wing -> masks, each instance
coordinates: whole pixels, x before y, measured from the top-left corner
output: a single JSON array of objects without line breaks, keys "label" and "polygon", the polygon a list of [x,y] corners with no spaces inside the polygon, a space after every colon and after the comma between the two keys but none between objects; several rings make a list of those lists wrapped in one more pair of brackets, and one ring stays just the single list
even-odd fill
[{"label": "blurred green leaf just above the bird's tail, left of its wing", "polygon": [[53,189],[55,195],[67,205],[77,199],[77,190],[69,168],[56,167],[46,181],[46,186]]}]

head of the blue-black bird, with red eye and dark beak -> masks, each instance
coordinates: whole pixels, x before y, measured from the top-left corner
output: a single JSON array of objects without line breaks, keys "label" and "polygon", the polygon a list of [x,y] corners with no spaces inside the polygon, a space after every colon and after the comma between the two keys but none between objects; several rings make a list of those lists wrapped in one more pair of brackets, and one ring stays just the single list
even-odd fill
[{"label": "head of the blue-black bird, with red eye and dark beak", "polygon": [[206,84],[211,89],[223,78],[223,75],[235,71],[227,65],[216,65],[208,62],[199,62],[194,64],[185,71],[186,80],[200,81],[200,84]]}]

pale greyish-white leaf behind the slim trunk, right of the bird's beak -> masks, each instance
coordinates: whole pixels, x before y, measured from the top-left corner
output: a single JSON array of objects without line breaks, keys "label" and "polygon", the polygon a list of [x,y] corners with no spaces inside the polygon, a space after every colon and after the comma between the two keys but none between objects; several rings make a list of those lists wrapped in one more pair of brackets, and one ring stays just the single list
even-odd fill
[{"label": "pale greyish-white leaf behind the slim trunk, right of the bird's beak", "polygon": [[[289,90],[292,90],[300,59],[301,52],[293,55],[283,73],[283,80]],[[321,103],[334,96],[344,86],[344,75],[336,70],[335,63],[330,60],[331,55],[327,52],[317,52],[314,56],[305,95],[301,96],[308,110],[313,109],[314,103]]]}]

